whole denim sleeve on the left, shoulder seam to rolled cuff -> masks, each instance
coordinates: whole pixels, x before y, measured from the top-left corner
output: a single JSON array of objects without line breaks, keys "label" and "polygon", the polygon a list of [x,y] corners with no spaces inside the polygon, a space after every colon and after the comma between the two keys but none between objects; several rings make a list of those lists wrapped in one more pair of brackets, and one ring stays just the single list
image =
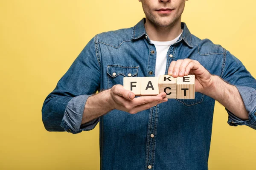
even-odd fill
[{"label": "whole denim sleeve on the left, shoulder seam to rolled cuff", "polygon": [[48,131],[67,131],[73,134],[92,130],[99,119],[81,125],[88,97],[99,91],[100,59],[93,37],[68,71],[47,96],[42,107],[42,120]]}]

